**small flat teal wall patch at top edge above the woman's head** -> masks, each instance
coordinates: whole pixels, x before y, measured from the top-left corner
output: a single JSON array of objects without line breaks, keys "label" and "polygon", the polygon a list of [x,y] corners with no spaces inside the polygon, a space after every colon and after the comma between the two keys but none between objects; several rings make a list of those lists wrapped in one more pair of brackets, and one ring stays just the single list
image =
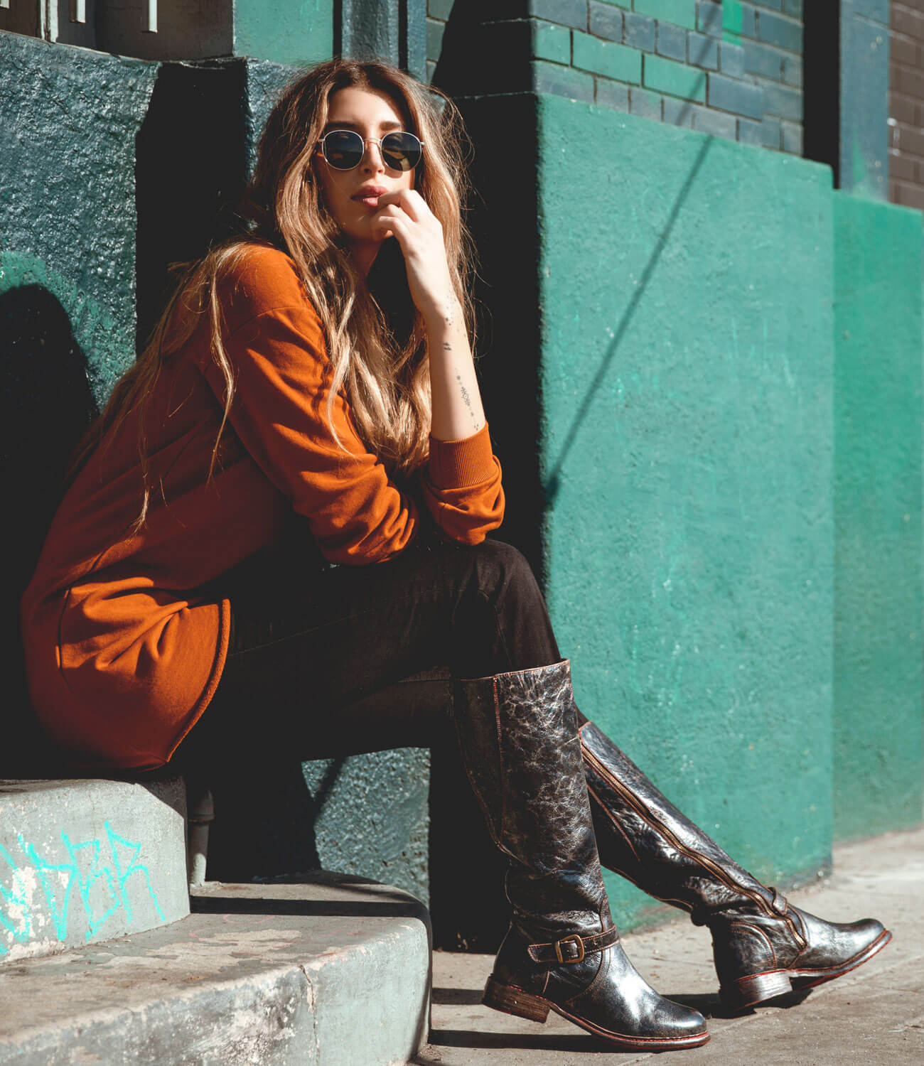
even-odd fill
[{"label": "small flat teal wall patch at top edge above the woman's head", "polygon": [[305,66],[334,54],[334,0],[234,0],[234,55]]}]

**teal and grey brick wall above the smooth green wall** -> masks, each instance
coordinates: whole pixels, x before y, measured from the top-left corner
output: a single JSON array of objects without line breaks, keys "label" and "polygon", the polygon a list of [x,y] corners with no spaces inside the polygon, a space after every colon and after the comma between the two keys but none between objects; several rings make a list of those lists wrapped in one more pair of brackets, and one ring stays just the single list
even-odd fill
[{"label": "teal and grey brick wall above the smooth green wall", "polygon": [[[801,155],[803,2],[528,0],[492,26],[539,92]],[[452,6],[427,0],[431,78]]]}]

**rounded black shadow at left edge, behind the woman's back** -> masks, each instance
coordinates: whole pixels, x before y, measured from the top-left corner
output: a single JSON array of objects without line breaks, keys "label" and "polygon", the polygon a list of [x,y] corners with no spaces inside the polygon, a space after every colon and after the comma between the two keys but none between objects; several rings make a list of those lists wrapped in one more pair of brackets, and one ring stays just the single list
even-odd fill
[{"label": "rounded black shadow at left edge, behind the woman's back", "polygon": [[7,516],[2,602],[4,707],[0,775],[48,765],[49,753],[29,708],[19,635],[19,599],[32,576],[63,495],[67,466],[96,415],[86,356],[64,307],[40,285],[0,293],[3,358],[2,497]]}]

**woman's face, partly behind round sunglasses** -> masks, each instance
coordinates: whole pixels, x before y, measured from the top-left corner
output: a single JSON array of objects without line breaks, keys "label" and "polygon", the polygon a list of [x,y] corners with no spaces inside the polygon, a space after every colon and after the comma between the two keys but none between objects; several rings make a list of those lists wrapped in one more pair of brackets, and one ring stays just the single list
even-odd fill
[{"label": "woman's face, partly behind round sunglasses", "polygon": [[[324,201],[357,252],[368,256],[391,236],[375,226],[378,197],[402,189],[414,189],[414,171],[393,171],[382,159],[375,143],[392,130],[406,130],[394,103],[384,94],[368,88],[340,88],[330,94],[327,124],[321,131],[356,130],[367,139],[366,155],[352,171],[337,171],[328,165],[319,146],[314,157],[314,173],[321,182]],[[374,139],[374,141],[373,141]]]}]

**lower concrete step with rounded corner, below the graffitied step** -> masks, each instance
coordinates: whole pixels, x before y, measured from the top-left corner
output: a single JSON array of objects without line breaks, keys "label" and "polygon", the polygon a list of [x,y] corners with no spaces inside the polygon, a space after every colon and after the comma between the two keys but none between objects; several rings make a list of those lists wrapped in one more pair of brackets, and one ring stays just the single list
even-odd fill
[{"label": "lower concrete step with rounded corner, below the graffitied step", "polygon": [[207,883],[165,928],[0,967],[0,1066],[385,1066],[429,1010],[426,908],[335,874]]}]

